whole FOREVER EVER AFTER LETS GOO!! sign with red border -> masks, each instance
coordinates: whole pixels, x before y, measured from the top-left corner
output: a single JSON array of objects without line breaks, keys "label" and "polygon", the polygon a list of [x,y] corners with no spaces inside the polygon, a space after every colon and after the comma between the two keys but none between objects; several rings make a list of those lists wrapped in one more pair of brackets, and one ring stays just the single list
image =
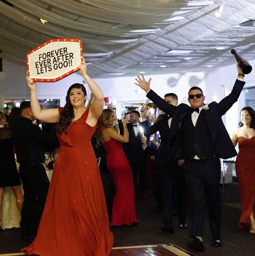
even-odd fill
[{"label": "whole FOREVER EVER AFTER LETS GOO!! sign with red border", "polygon": [[55,82],[79,70],[79,39],[51,39],[26,55],[27,75],[37,82]]}]

